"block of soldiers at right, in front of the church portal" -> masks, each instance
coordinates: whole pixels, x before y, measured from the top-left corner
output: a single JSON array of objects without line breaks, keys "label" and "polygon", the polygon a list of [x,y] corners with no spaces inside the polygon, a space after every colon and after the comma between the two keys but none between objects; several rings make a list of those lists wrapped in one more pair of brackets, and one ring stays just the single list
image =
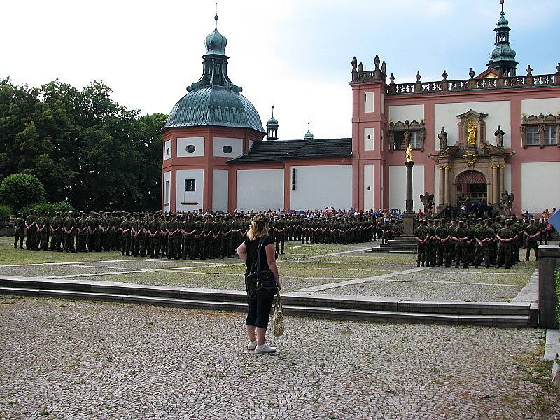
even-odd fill
[{"label": "block of soldiers at right, in front of the church portal", "polygon": [[515,217],[477,221],[421,219],[414,231],[418,242],[418,267],[511,268],[519,262],[519,249],[526,248],[526,260],[533,249],[538,260],[538,244],[542,232],[535,221],[523,224]]}]

